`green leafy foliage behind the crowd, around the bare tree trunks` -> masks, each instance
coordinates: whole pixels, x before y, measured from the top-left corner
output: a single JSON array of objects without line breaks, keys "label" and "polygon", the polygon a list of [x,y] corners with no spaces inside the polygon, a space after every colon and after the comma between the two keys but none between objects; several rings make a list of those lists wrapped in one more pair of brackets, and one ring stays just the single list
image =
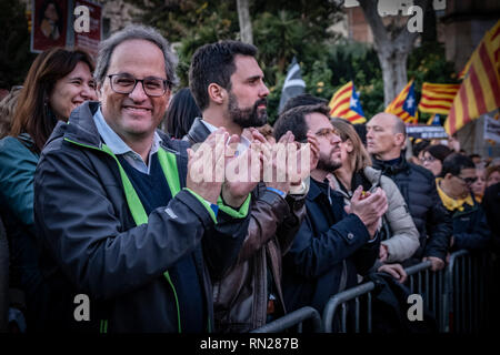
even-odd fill
[{"label": "green leafy foliage behind the crowd, around the bare tree trunks", "polygon": [[[196,49],[223,39],[239,39],[236,0],[127,0],[144,10],[143,23],[154,26],[173,43],[179,54],[181,87]],[[306,81],[306,92],[330,100],[343,84],[353,81],[367,119],[383,111],[383,80],[377,52],[364,43],[349,42],[328,31],[341,14],[334,1],[250,1],[253,42],[269,87],[268,116],[272,123],[287,69],[296,57]],[[453,65],[444,60],[442,45],[426,42],[408,60],[408,75],[416,78],[419,99],[423,81],[456,82]],[[422,115],[421,120],[424,120]]]}]

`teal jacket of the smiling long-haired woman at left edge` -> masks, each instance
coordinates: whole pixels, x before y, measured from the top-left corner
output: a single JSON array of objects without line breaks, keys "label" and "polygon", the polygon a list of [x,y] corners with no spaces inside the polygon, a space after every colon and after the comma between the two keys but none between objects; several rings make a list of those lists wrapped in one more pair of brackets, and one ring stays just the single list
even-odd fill
[{"label": "teal jacket of the smiling long-haired woman at left edge", "polygon": [[33,225],[33,178],[39,160],[33,146],[28,133],[0,140],[0,215],[9,241],[9,287],[20,295],[11,304],[22,310],[28,332],[43,326],[37,324],[36,312],[47,296]]}]

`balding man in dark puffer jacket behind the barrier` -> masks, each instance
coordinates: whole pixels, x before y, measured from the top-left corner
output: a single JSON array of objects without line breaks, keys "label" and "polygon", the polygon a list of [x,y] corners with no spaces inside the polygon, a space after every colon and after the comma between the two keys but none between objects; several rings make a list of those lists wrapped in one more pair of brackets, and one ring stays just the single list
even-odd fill
[{"label": "balding man in dark puffer jacket behind the barrier", "polygon": [[420,247],[409,262],[429,260],[432,270],[438,271],[444,267],[451,219],[439,199],[432,173],[404,159],[404,123],[393,114],[378,113],[367,124],[367,149],[373,168],[398,185],[420,233]]}]

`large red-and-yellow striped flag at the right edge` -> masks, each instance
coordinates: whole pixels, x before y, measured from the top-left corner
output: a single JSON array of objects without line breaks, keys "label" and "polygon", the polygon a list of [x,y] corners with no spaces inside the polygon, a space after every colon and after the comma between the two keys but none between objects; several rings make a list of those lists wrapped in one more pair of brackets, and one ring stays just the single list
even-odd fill
[{"label": "large red-and-yellow striped flag at the right edge", "polygon": [[453,134],[481,114],[500,108],[500,21],[486,33],[470,59],[444,130]]}]

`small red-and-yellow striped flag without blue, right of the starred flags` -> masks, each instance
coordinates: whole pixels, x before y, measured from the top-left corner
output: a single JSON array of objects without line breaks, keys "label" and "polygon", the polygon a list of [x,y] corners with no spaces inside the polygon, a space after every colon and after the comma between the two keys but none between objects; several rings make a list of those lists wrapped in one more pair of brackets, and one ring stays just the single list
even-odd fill
[{"label": "small red-and-yellow striped flag without blue, right of the starred flags", "polygon": [[422,84],[419,110],[427,113],[440,113],[448,115],[453,99],[460,89],[460,84]]}]

